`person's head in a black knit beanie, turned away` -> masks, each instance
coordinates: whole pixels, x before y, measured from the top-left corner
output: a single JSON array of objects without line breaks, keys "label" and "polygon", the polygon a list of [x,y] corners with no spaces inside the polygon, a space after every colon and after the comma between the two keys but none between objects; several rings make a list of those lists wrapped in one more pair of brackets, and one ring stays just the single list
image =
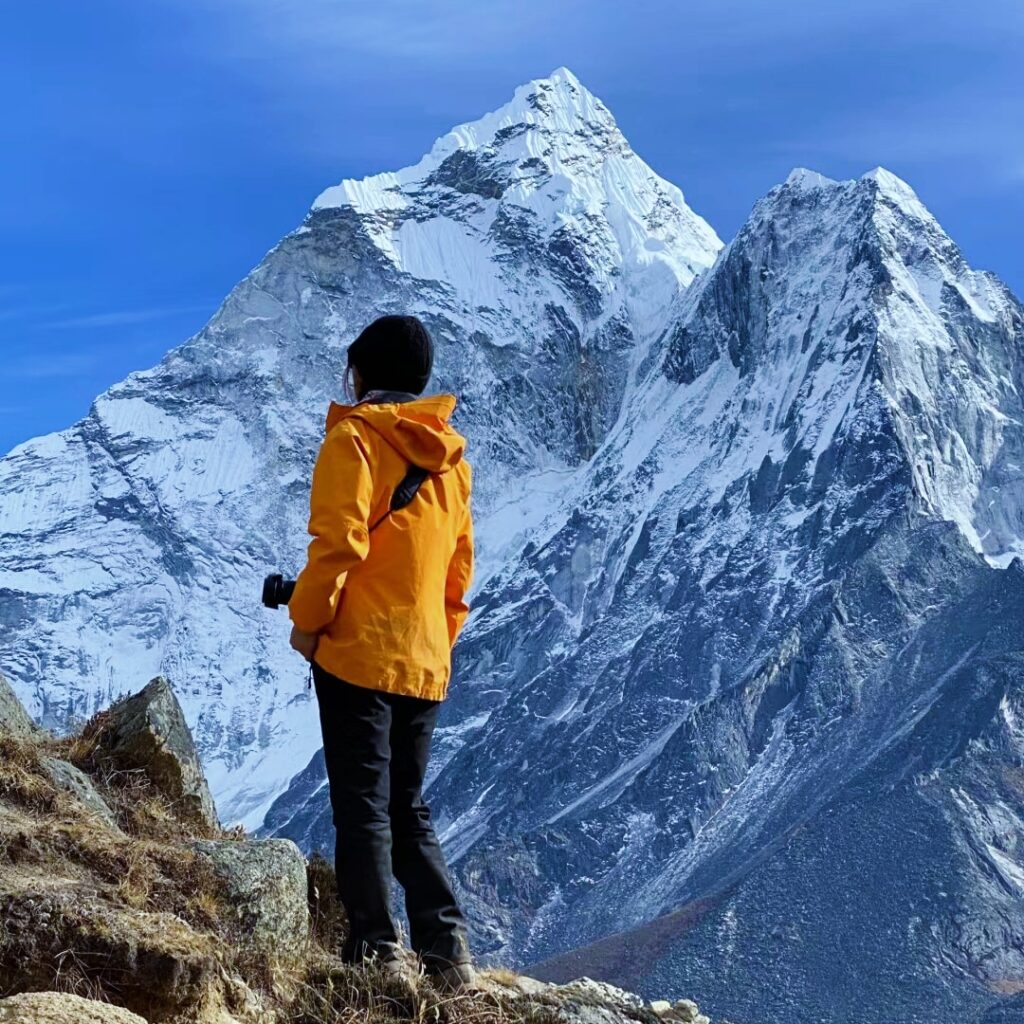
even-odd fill
[{"label": "person's head in a black knit beanie, turned away", "polygon": [[430,380],[434,344],[415,316],[380,316],[348,346],[346,376],[356,399],[369,391],[422,394]]}]

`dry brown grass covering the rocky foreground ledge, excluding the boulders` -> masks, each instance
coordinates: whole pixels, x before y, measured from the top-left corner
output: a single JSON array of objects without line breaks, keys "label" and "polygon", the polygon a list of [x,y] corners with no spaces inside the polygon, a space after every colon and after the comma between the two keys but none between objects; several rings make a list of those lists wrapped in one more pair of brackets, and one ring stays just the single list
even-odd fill
[{"label": "dry brown grass covering the rocky foreground ledge, excluding the boulders", "polygon": [[[486,993],[396,985],[337,957],[346,933],[334,870],[308,865],[310,946],[283,963],[247,948],[210,861],[142,770],[98,754],[105,713],[73,737],[0,736],[0,996],[53,989],[126,1007],[154,1024],[548,1024],[543,1001],[514,998],[514,975]],[[44,759],[88,774],[117,826],[57,787]],[[244,839],[239,829],[220,840]],[[262,1009],[261,1009],[262,1008]],[[230,1016],[219,1016],[226,1012]]]}]

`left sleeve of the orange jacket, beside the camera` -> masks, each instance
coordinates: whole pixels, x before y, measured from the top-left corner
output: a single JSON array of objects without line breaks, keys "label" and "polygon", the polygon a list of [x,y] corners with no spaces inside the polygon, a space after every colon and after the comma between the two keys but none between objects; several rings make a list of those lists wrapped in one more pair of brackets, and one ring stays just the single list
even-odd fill
[{"label": "left sleeve of the orange jacket, beside the camera", "polygon": [[305,568],[288,602],[292,622],[319,633],[334,620],[345,575],[370,551],[373,477],[370,453],[356,430],[341,427],[324,440],[309,496],[309,544]]}]

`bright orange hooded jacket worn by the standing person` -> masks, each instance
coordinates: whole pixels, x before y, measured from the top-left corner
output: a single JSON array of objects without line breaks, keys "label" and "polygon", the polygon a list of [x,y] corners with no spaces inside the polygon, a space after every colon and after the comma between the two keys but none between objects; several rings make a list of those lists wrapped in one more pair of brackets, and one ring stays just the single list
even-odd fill
[{"label": "bright orange hooded jacket worn by the standing person", "polygon": [[[466,440],[447,422],[455,403],[441,394],[328,413],[313,540],[288,608],[300,630],[319,634],[316,664],[357,686],[430,700],[447,692],[473,572]],[[410,464],[431,475],[386,515]]]}]

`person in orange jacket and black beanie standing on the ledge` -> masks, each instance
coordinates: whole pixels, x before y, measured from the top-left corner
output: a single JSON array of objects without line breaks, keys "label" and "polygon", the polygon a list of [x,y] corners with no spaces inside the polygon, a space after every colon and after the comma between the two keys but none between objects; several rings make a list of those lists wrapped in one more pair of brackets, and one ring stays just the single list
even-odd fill
[{"label": "person in orange jacket and black beanie standing on the ledge", "polygon": [[[382,316],[348,347],[354,404],[332,402],[313,469],[305,567],[289,602],[310,662],[337,831],[342,956],[400,976],[390,893],[441,987],[475,984],[466,923],[422,786],[473,570],[471,473],[451,394],[423,397],[433,344],[414,316]],[[389,511],[410,467],[427,475]]]}]

